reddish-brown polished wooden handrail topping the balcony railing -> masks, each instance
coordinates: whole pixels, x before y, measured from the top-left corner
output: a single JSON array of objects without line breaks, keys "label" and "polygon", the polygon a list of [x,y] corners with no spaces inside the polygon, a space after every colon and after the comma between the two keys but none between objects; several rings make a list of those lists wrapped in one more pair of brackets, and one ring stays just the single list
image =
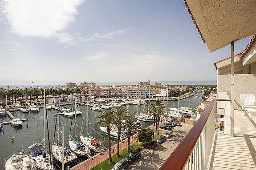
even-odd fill
[{"label": "reddish-brown polished wooden handrail topping the balcony railing", "polygon": [[194,149],[195,144],[203,130],[205,123],[211,111],[213,110],[217,99],[212,100],[211,104],[207,107],[203,115],[197,120],[195,125],[189,130],[187,135],[179,143],[179,145],[173,150],[171,155],[163,163],[158,170],[182,170],[183,166],[187,162],[191,151]]}]

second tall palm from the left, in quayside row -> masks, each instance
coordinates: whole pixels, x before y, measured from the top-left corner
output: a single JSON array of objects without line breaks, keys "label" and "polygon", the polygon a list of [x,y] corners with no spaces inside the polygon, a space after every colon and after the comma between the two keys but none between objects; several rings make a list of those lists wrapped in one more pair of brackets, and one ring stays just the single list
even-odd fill
[{"label": "second tall palm from the left, in quayside row", "polygon": [[123,121],[127,119],[126,114],[129,112],[124,107],[116,107],[114,113],[115,113],[115,124],[118,126],[118,154],[117,154],[117,156],[120,157],[119,142],[120,142],[120,136],[121,136],[121,128],[122,128]]}]

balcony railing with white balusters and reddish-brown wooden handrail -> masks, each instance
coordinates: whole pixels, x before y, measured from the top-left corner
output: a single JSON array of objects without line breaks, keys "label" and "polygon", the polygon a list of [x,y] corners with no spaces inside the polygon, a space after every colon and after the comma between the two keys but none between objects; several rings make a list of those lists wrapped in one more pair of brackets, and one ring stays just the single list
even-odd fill
[{"label": "balcony railing with white balusters and reddish-brown wooden handrail", "polygon": [[214,99],[159,170],[206,170],[215,133]]}]

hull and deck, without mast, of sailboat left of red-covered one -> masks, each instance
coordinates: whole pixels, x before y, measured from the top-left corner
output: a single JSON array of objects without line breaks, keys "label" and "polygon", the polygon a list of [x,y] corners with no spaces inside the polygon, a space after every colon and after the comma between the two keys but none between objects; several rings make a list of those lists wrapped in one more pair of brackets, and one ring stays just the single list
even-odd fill
[{"label": "hull and deck, without mast, of sailboat left of red-covered one", "polygon": [[75,138],[74,141],[71,138],[69,138],[69,147],[78,156],[85,156],[85,157],[87,157],[90,154],[89,148],[86,147],[85,145],[79,143],[77,141],[77,138]]}]

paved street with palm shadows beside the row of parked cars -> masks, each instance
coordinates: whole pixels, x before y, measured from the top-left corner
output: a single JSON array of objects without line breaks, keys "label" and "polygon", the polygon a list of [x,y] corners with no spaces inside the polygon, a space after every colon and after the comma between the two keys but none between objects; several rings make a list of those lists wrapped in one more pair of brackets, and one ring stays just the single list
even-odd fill
[{"label": "paved street with palm shadows beside the row of parked cars", "polygon": [[[157,170],[191,129],[191,127],[192,125],[181,123],[180,126],[173,128],[171,130],[173,131],[171,138],[167,138],[167,140],[163,143],[158,143],[158,146],[154,147],[154,149],[143,149],[141,151],[142,157],[134,161],[132,165],[129,165],[127,170],[145,170],[145,168]],[[161,129],[159,129],[159,131],[160,130]]]}]

